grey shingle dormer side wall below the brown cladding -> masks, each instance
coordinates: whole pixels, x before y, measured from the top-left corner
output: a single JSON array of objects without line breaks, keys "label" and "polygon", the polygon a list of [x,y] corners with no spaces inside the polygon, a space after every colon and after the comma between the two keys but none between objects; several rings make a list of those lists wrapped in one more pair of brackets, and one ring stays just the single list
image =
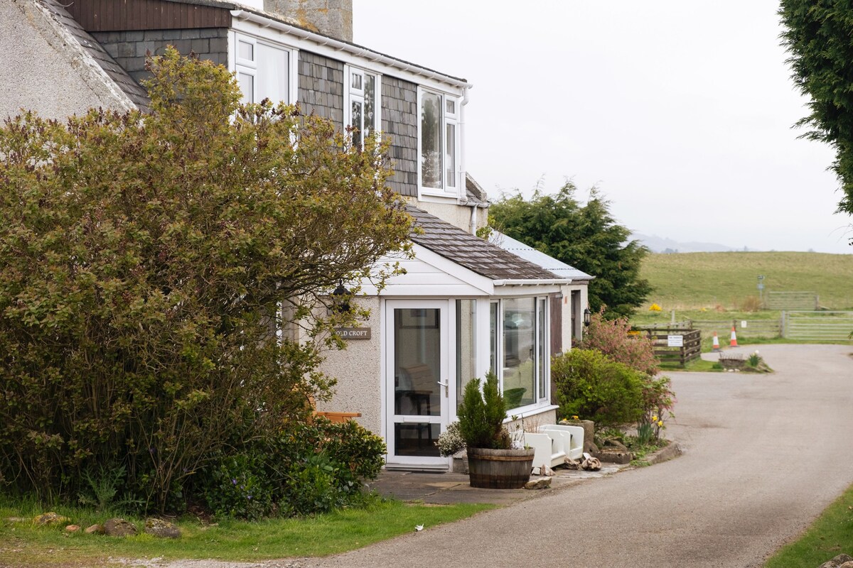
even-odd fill
[{"label": "grey shingle dormer side wall below the brown cladding", "polygon": [[145,30],[144,32],[91,32],[109,55],[140,81],[148,78],[145,54],[160,55],[167,45],[183,55],[193,51],[201,59],[228,66],[228,28],[207,27],[193,30]]}]

